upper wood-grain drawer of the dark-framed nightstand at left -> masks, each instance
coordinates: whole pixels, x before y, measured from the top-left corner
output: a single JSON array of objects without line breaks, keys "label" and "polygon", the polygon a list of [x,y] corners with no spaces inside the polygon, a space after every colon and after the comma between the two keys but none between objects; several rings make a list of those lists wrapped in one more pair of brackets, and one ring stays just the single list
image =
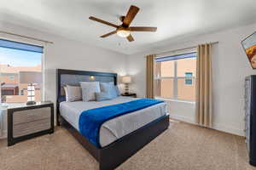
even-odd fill
[{"label": "upper wood-grain drawer of the dark-framed nightstand at left", "polygon": [[26,111],[15,111],[13,114],[14,125],[26,122],[33,122],[42,119],[50,120],[50,107],[32,109]]}]

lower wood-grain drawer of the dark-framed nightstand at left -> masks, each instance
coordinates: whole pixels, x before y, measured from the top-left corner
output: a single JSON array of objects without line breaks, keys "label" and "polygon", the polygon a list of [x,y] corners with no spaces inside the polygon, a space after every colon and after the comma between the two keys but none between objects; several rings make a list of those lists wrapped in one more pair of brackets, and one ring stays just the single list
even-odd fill
[{"label": "lower wood-grain drawer of the dark-framed nightstand at left", "polygon": [[34,122],[16,124],[13,127],[13,137],[17,138],[27,134],[38,133],[50,128],[50,118]]}]

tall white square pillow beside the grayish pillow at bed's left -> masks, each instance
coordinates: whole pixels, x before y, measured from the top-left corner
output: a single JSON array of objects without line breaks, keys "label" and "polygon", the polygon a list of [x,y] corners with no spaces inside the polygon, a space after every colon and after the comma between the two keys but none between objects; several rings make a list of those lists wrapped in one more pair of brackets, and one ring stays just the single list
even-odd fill
[{"label": "tall white square pillow beside the grayish pillow at bed's left", "polygon": [[80,82],[83,101],[95,101],[96,93],[101,92],[100,82]]}]

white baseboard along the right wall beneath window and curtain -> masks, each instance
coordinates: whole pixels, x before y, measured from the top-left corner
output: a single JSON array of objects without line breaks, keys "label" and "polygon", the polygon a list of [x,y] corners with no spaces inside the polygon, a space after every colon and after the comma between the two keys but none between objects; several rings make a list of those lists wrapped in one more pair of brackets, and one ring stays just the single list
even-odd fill
[{"label": "white baseboard along the right wall beneath window and curtain", "polygon": [[[196,125],[195,121],[192,118],[187,116],[170,115],[170,118],[177,119],[178,121],[181,121],[181,122],[189,122],[191,124]],[[238,136],[245,136],[243,129],[239,129],[236,127],[228,127],[226,125],[222,125],[218,123],[214,123],[212,129],[215,129],[224,133],[236,134]]]}]

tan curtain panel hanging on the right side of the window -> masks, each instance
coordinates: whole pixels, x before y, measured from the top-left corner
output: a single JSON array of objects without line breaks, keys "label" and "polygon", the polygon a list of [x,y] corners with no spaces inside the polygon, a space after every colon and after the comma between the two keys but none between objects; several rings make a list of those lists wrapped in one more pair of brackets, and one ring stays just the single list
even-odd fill
[{"label": "tan curtain panel hanging on the right side of the window", "polygon": [[212,127],[212,45],[197,47],[195,121]]}]

